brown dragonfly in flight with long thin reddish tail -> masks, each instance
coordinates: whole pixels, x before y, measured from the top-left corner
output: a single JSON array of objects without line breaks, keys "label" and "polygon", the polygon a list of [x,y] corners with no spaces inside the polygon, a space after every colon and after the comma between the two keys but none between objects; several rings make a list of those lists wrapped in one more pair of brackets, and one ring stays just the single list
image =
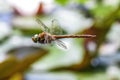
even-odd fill
[{"label": "brown dragonfly in flight with long thin reddish tail", "polygon": [[58,25],[58,21],[56,19],[52,20],[52,26],[47,27],[38,17],[35,18],[36,22],[40,25],[42,33],[35,34],[32,37],[32,41],[34,43],[41,44],[51,44],[55,42],[58,46],[67,49],[67,46],[60,39],[62,38],[93,38],[96,35],[60,35],[62,33],[62,29]]}]

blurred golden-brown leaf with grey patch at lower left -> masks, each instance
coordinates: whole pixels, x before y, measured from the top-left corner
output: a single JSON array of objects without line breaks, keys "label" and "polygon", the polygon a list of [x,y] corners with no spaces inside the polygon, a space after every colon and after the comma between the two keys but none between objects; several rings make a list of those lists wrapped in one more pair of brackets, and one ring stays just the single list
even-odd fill
[{"label": "blurred golden-brown leaf with grey patch at lower left", "polygon": [[[23,73],[33,62],[40,59],[46,53],[47,51],[42,49],[41,50],[35,49],[31,53],[26,53],[26,51],[24,50],[23,53],[21,54],[19,54],[19,50],[17,49],[11,51],[9,53],[10,57],[8,57],[7,60],[5,60],[0,64],[0,73],[1,73],[0,79],[4,80],[10,78],[11,76],[13,76],[18,72]],[[29,54],[29,56],[27,56],[27,54]]]}]

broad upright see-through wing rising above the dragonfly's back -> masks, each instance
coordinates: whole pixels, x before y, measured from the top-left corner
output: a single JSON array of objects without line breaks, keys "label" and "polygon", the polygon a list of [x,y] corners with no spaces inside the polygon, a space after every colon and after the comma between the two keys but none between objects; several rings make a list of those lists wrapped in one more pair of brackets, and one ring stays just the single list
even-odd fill
[{"label": "broad upright see-through wing rising above the dragonfly's back", "polygon": [[50,33],[55,35],[62,34],[62,28],[60,27],[58,21],[56,19],[52,20],[52,26],[50,27]]}]

